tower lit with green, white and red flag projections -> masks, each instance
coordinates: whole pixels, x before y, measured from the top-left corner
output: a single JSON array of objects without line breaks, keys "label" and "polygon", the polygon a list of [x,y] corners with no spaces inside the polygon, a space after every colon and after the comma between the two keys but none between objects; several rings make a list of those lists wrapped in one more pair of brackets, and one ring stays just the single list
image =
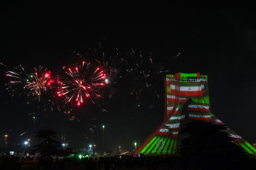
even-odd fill
[{"label": "tower lit with green, white and red flag projections", "polygon": [[[175,154],[178,131],[181,121],[203,120],[213,124],[224,124],[210,113],[208,79],[200,73],[177,73],[165,78],[165,114],[164,122],[142,142],[133,155],[142,154]],[[255,147],[227,130],[233,142],[240,145],[245,152],[256,154]]]}]

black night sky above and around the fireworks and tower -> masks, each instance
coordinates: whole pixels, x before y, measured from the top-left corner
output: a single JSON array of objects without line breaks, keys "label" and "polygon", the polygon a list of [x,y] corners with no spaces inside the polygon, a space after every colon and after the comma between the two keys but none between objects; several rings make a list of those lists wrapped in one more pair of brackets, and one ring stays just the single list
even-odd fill
[{"label": "black night sky above and around the fireworks and tower", "polygon": [[[212,113],[248,142],[256,142],[256,13],[252,4],[5,1],[0,11],[1,63],[32,68],[41,64],[54,72],[65,64],[77,62],[73,51],[95,48],[97,42],[102,43],[106,53],[112,53],[115,48],[121,52],[134,48],[148,57],[152,52],[153,60],[164,63],[170,74],[208,75]],[[179,52],[181,55],[171,60]],[[2,65],[0,68],[1,148],[5,134],[9,135],[11,147],[15,142],[33,139],[33,133],[38,130],[51,128],[58,135],[66,134],[69,146],[75,149],[94,142],[99,149],[115,151],[121,145],[124,150],[132,150],[134,142],[143,142],[164,118],[164,89],[160,90],[161,97],[152,103],[154,107],[146,104],[137,107],[136,99],[122,79],[105,106],[107,113],[97,108],[90,108],[90,112],[79,110],[78,122],[53,112],[42,120],[43,125],[39,122],[34,125],[28,114],[36,107],[26,106],[22,98],[7,94],[6,68]],[[144,98],[143,102],[148,101]],[[92,121],[91,115],[96,120]],[[94,132],[89,130],[90,123],[96,126]],[[103,124],[105,142],[102,142]],[[26,133],[21,135],[23,132]]]}]

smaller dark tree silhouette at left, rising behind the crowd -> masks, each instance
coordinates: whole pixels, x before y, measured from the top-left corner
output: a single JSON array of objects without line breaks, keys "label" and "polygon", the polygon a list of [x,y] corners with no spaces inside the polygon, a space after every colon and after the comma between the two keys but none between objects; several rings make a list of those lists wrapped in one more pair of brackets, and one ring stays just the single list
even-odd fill
[{"label": "smaller dark tree silhouette at left, rising behind the crowd", "polygon": [[36,148],[34,150],[36,152],[40,152],[43,156],[48,157],[53,154],[58,154],[58,148],[61,146],[60,142],[53,140],[53,138],[56,138],[56,134],[58,133],[54,132],[53,130],[41,130],[36,132],[36,137],[38,137],[39,140],[43,139],[43,142],[35,145],[34,147]]}]

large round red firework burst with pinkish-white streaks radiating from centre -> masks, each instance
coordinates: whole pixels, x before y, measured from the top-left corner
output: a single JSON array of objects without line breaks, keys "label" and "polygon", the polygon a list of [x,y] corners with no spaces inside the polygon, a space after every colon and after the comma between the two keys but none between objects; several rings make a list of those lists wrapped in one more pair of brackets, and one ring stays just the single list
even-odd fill
[{"label": "large round red firework burst with pinkish-white streaks radiating from centre", "polygon": [[90,62],[83,61],[81,65],[68,68],[65,75],[60,76],[58,96],[65,96],[65,103],[75,101],[80,106],[93,98],[101,97],[99,91],[105,85],[105,73],[100,67],[93,67]]}]

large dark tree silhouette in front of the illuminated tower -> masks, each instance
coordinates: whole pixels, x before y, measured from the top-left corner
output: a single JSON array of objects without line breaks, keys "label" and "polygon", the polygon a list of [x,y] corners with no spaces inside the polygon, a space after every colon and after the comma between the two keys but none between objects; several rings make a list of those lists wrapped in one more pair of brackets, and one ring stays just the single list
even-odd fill
[{"label": "large dark tree silhouette in front of the illuminated tower", "polygon": [[225,130],[225,125],[213,125],[205,121],[187,123],[181,134],[188,137],[181,141],[180,149],[186,165],[192,169],[203,169],[203,166],[205,169],[245,168],[243,164],[247,154],[233,143],[233,138]]}]

